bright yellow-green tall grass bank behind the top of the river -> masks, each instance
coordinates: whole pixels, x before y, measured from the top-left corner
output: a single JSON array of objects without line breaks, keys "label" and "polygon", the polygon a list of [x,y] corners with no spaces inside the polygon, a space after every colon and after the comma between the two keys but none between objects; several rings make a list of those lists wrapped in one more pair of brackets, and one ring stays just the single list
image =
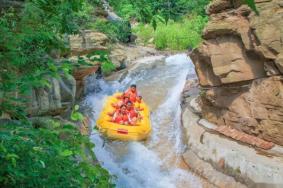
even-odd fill
[{"label": "bright yellow-green tall grass bank behind the top of the river", "polygon": [[185,50],[195,48],[201,42],[201,32],[207,17],[190,16],[179,22],[158,23],[156,31],[150,25],[141,24],[134,29],[143,44],[154,39],[158,49]]}]

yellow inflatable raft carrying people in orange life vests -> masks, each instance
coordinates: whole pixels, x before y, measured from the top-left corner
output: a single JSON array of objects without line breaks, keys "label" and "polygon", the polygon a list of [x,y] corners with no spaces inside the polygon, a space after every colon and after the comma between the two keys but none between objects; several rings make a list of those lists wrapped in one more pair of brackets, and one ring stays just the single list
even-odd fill
[{"label": "yellow inflatable raft carrying people in orange life vests", "polygon": [[142,119],[138,121],[136,125],[120,125],[110,122],[111,117],[109,112],[113,112],[115,109],[112,107],[113,103],[117,103],[117,96],[122,93],[116,93],[113,96],[108,97],[105,106],[100,114],[100,117],[96,121],[98,130],[110,139],[118,139],[123,141],[138,141],[146,139],[151,132],[150,125],[150,111],[148,106],[142,102],[139,107],[143,109],[140,111]]}]

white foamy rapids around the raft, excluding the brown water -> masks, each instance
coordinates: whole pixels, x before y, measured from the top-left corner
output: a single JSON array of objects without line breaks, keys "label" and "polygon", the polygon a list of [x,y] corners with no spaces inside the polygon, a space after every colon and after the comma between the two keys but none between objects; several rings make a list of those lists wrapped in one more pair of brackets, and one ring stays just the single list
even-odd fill
[{"label": "white foamy rapids around the raft, excluding the brown water", "polygon": [[[156,58],[156,60],[160,60],[160,58]],[[99,80],[94,85],[93,82],[88,84],[91,88],[97,87],[97,85],[101,88],[100,90],[96,90],[95,93],[89,93],[85,100],[85,103],[93,108],[92,121],[95,124],[95,120],[102,109],[107,95],[124,90],[129,84],[137,81],[147,82],[147,85],[153,84],[152,88],[156,89],[154,85],[156,81],[158,82],[158,78],[151,74],[162,74],[157,76],[161,76],[165,79],[165,82],[168,79],[173,80],[175,83],[172,86],[168,86],[171,88],[168,88],[164,102],[151,115],[152,136],[147,142],[105,142],[99,133],[93,133],[91,135],[91,140],[96,145],[94,149],[96,157],[102,166],[116,177],[114,182],[117,187],[175,188],[182,187],[178,184],[183,181],[186,187],[201,187],[200,180],[189,171],[177,167],[172,167],[171,169],[165,168],[163,163],[166,163],[166,157],[161,159],[159,153],[153,149],[155,145],[160,144],[160,137],[164,136],[162,135],[164,133],[161,134],[163,127],[160,127],[160,123],[169,121],[166,125],[168,127],[168,133],[165,134],[169,135],[169,139],[173,142],[173,148],[171,148],[168,156],[182,151],[180,95],[187,74],[194,74],[194,67],[185,54],[166,58],[165,64],[161,65],[161,67],[164,68],[164,66],[166,71],[162,69],[159,72],[158,67],[157,70],[137,69],[137,71],[133,71],[133,73],[127,75],[122,83],[107,83]],[[88,90],[92,91],[93,89],[91,88]]]}]

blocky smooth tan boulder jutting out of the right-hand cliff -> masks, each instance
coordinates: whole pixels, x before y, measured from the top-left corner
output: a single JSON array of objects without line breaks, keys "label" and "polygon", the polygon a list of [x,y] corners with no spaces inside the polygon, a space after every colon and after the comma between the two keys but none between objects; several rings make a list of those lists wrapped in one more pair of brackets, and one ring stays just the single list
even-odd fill
[{"label": "blocky smooth tan boulder jutting out of the right-hand cliff", "polygon": [[[207,40],[203,46],[200,47],[201,51],[205,52],[204,56],[209,57],[208,62],[210,66],[203,67],[196,65],[198,74],[204,72],[204,69],[211,69],[217,78],[206,85],[219,85],[226,83],[234,83],[239,81],[247,81],[265,76],[264,62],[259,58],[247,55],[243,43],[237,36],[223,36],[216,37],[215,39]],[[192,56],[194,57],[194,56]],[[193,58],[196,60],[196,58]],[[195,64],[204,63],[195,61]],[[209,76],[212,77],[212,76]],[[205,76],[203,79],[207,79]],[[210,78],[208,78],[210,79]],[[201,80],[201,83],[204,81]]]}]

